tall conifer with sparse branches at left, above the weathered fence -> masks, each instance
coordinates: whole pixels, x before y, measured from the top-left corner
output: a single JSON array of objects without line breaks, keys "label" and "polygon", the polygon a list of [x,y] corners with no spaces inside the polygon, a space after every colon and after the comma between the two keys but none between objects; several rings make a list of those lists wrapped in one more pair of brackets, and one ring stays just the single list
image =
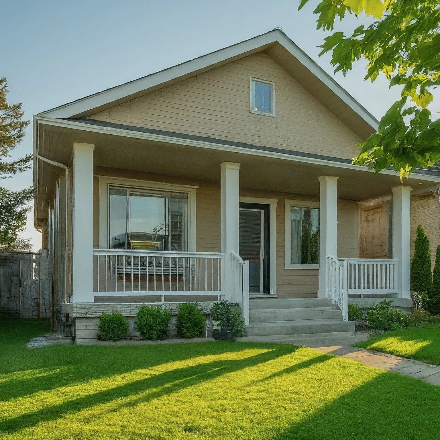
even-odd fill
[{"label": "tall conifer with sparse branches at left, above the weathered fence", "polygon": [[[15,161],[5,160],[23,139],[29,121],[23,120],[22,104],[6,101],[6,78],[0,78],[0,180],[30,168],[32,154]],[[18,232],[26,224],[28,202],[32,199],[32,187],[21,191],[9,191],[0,186],[0,245],[14,242]]]}]

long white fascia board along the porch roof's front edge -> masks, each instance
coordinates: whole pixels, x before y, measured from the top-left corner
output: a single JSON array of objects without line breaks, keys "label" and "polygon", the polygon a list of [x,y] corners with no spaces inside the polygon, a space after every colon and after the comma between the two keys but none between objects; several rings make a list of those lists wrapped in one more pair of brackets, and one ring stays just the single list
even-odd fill
[{"label": "long white fascia board along the porch roof's front edge", "polygon": [[[210,150],[220,150],[220,151],[230,151],[232,153],[239,153],[239,154],[250,154],[253,156],[261,156],[261,157],[267,157],[267,158],[275,158],[275,159],[284,159],[294,162],[304,162],[304,163],[311,163],[315,165],[326,165],[326,166],[332,166],[335,168],[345,168],[345,169],[352,169],[357,171],[367,171],[367,172],[374,172],[373,170],[367,169],[366,167],[354,165],[352,163],[345,163],[345,162],[335,162],[330,161],[326,159],[319,159],[319,158],[310,158],[310,157],[304,157],[304,156],[295,156],[293,154],[285,154],[280,153],[278,151],[266,151],[266,150],[257,150],[252,148],[244,148],[244,147],[236,147],[233,145],[227,145],[221,142],[213,143],[213,142],[206,142],[202,140],[197,139],[187,139],[187,138],[179,138],[174,136],[166,136],[166,135],[159,135],[155,133],[145,133],[145,132],[138,132],[138,131],[132,131],[122,128],[115,128],[115,127],[104,127],[99,125],[88,125],[81,122],[76,121],[66,121],[63,119],[55,119],[55,118],[49,118],[49,117],[43,117],[38,116],[36,117],[36,120],[39,124],[44,125],[53,125],[55,127],[64,127],[64,128],[72,128],[74,130],[82,130],[87,132],[95,132],[95,133],[103,133],[103,134],[109,134],[114,136],[124,136],[129,138],[135,138],[135,139],[145,139],[145,140],[152,140],[157,142],[165,142],[165,143],[173,143],[176,145],[188,145],[190,147],[201,147],[201,148],[207,148]],[[388,174],[390,176],[398,176],[398,173],[392,170],[383,170],[380,172],[381,174]],[[418,180],[426,180],[429,182],[440,182],[440,176],[427,176],[425,174],[418,174],[415,172],[412,172],[410,174],[410,179],[418,179]]]}]

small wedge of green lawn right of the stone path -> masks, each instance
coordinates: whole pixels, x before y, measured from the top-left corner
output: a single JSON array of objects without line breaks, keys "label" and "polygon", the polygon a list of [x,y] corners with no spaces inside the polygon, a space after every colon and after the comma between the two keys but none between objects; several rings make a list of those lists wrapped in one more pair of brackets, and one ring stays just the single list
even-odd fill
[{"label": "small wedge of green lawn right of the stone path", "polygon": [[369,348],[440,365],[440,325],[430,324],[386,332],[353,344],[353,347]]}]

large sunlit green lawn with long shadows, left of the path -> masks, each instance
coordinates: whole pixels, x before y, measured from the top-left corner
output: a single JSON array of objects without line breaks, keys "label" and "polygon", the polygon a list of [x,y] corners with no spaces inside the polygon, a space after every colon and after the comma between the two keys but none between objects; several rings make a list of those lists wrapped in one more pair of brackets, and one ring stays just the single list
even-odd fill
[{"label": "large sunlit green lawn with long shadows, left of the path", "polygon": [[[438,439],[440,388],[292,345],[22,344],[0,320],[1,439]],[[421,411],[422,409],[422,411]]]}]

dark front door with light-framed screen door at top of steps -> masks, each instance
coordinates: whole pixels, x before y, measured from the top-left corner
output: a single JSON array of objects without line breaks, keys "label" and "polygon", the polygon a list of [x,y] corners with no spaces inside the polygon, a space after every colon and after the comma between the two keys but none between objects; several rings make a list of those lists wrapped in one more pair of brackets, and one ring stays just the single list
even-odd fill
[{"label": "dark front door with light-framed screen door at top of steps", "polygon": [[239,254],[249,260],[249,293],[269,293],[269,206],[240,203]]}]

